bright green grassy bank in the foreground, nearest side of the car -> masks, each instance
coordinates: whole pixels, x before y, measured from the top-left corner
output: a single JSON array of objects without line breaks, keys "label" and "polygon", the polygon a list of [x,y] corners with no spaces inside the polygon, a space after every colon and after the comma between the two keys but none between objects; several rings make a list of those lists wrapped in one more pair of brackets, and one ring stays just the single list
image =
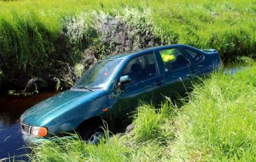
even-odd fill
[{"label": "bright green grassy bank in the foreground, nearest side of the car", "polygon": [[99,146],[79,140],[38,146],[32,161],[255,161],[256,65],[195,85],[180,108],[142,105],[129,135]]}]

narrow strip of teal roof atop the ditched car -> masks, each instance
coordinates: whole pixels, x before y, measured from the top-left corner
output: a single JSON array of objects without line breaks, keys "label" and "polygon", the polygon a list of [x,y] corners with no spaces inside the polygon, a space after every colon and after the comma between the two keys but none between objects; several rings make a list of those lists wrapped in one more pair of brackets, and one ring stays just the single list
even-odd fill
[{"label": "narrow strip of teal roof atop the ditched car", "polygon": [[121,54],[117,54],[117,55],[111,55],[102,60],[127,59],[134,55],[140,55],[140,54],[145,54],[147,52],[152,52],[152,50],[161,50],[161,49],[165,49],[165,48],[169,48],[169,47],[180,47],[180,46],[185,46],[185,45],[172,44],[172,45],[161,45],[161,46],[157,46],[157,47],[148,47],[145,49],[130,50],[129,52],[125,52],[125,53],[121,53]]}]

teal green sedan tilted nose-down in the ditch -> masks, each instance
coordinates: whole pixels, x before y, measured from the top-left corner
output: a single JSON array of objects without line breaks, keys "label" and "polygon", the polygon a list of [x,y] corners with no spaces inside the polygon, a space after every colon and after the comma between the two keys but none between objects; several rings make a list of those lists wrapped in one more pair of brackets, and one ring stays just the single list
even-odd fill
[{"label": "teal green sedan tilted nose-down in the ditch", "polygon": [[[185,93],[192,81],[220,67],[216,50],[165,45],[100,60],[72,88],[48,98],[21,115],[27,143],[77,131],[97,143],[102,125],[120,130],[140,100],[155,102]],[[103,122],[104,121],[104,122]],[[39,138],[40,137],[40,138]]]}]

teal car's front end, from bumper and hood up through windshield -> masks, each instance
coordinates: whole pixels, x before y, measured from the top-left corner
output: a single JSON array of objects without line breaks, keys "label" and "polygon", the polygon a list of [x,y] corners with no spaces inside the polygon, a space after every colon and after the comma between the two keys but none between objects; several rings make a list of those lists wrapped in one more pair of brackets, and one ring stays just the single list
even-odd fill
[{"label": "teal car's front end, from bumper and hood up through windshield", "polygon": [[[21,115],[21,131],[26,143],[70,132],[85,120],[109,115],[107,87],[122,64],[121,59],[102,60],[87,70],[75,85],[48,98]],[[104,113],[104,114],[103,114]]]}]

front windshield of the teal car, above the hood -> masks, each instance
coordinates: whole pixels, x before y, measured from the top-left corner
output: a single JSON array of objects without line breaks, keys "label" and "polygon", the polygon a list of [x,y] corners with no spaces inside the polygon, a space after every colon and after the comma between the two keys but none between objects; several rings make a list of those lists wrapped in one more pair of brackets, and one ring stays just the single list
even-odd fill
[{"label": "front windshield of the teal car, above the hood", "polygon": [[82,75],[72,88],[86,88],[87,90],[106,88],[119,69],[121,62],[120,59],[97,62]]}]

